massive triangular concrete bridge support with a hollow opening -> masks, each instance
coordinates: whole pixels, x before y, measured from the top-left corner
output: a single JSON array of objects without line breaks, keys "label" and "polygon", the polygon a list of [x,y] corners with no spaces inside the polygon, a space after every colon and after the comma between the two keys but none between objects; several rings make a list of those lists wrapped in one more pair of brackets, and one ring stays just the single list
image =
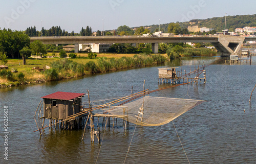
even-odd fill
[{"label": "massive triangular concrete bridge support with a hollow opening", "polygon": [[219,35],[218,43],[211,43],[221,53],[223,57],[229,57],[230,55],[239,55],[239,50],[244,42],[245,37],[242,36],[230,36]]}]

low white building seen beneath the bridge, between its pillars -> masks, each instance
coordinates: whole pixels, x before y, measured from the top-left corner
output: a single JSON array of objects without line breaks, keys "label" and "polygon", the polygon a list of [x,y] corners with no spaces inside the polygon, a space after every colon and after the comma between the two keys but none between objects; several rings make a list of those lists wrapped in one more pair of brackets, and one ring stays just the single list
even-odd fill
[{"label": "low white building seen beneath the bridge, between its pillars", "polygon": [[88,51],[92,53],[107,52],[110,48],[110,44],[78,44],[79,51]]}]

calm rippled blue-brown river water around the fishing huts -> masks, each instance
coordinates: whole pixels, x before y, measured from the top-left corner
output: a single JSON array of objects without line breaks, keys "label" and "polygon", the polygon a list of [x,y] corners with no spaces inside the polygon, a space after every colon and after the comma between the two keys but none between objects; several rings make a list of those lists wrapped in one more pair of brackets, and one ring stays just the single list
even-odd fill
[{"label": "calm rippled blue-brown river water around the fishing huts", "polygon": [[[206,100],[174,120],[190,163],[256,163],[256,58],[249,64],[226,64],[220,57],[184,58],[182,69],[194,69],[194,63],[215,62],[206,69],[207,83],[197,87],[183,85],[152,93],[151,96]],[[166,63],[179,65],[180,60]],[[191,65],[191,66],[189,66]],[[124,131],[104,129],[100,125],[101,149],[90,143],[87,129],[49,130],[40,136],[34,121],[40,97],[56,91],[86,92],[92,101],[127,96],[145,87],[153,90],[167,86],[158,84],[158,69],[163,66],[132,69],[61,82],[5,88],[0,90],[0,163],[188,163],[170,122],[158,127],[130,124]],[[87,101],[83,98],[83,101]],[[8,162],[4,160],[3,108],[8,105]],[[245,112],[244,112],[245,110]],[[39,122],[37,120],[37,122]],[[49,124],[49,122],[46,122]],[[103,135],[104,134],[104,135]],[[98,155],[99,153],[99,155]],[[98,159],[97,159],[98,157]]]}]

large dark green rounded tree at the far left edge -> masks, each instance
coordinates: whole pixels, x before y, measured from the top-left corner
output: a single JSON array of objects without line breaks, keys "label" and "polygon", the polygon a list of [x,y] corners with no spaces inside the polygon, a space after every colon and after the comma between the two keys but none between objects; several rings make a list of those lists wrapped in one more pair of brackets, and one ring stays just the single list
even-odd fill
[{"label": "large dark green rounded tree at the far left edge", "polygon": [[14,58],[14,54],[29,46],[29,36],[24,34],[22,31],[12,30],[0,30],[0,50],[11,54]]}]

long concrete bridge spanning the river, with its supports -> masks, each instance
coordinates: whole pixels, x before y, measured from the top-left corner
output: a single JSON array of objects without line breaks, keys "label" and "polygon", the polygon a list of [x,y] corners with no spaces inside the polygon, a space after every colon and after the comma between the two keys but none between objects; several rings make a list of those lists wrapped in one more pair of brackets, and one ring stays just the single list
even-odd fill
[{"label": "long concrete bridge spanning the river, with its supports", "polygon": [[30,41],[40,40],[44,44],[78,44],[85,43],[152,43],[152,52],[158,53],[158,43],[209,42],[221,53],[221,56],[238,54],[244,41],[256,40],[256,37],[240,37],[229,35],[209,36],[61,36],[61,37],[30,37]]}]

